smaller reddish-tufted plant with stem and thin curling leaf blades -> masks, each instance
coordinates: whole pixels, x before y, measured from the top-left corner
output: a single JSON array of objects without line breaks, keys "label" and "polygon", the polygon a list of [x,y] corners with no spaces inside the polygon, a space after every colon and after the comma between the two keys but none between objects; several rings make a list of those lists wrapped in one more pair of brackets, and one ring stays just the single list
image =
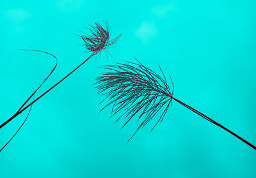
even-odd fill
[{"label": "smaller reddish-tufted plant with stem and thin curling leaf blades", "polygon": [[[86,52],[91,52],[92,54],[90,54],[89,57],[87,57],[83,63],[79,64],[79,66],[77,66],[74,70],[72,70],[70,73],[68,73],[65,77],[61,78],[61,80],[59,82],[57,82],[56,84],[54,84],[52,87],[50,87],[47,91],[45,91],[45,93],[41,94],[40,96],[38,96],[38,98],[35,98],[35,100],[31,101],[31,103],[28,104],[28,101],[31,100],[31,98],[33,96],[35,96],[36,91],[38,91],[38,89],[40,89],[40,87],[44,84],[44,82],[50,77],[50,75],[52,74],[52,72],[55,70],[56,65],[54,66],[54,68],[52,69],[51,73],[48,75],[47,78],[45,78],[44,82],[42,82],[42,84],[40,84],[40,86],[34,91],[33,94],[31,94],[31,96],[29,96],[28,100],[26,100],[22,106],[19,108],[19,110],[12,116],[10,117],[10,119],[6,120],[5,122],[3,122],[3,124],[0,125],[0,129],[3,128],[3,126],[5,126],[6,124],[8,124],[8,122],[12,121],[15,117],[17,117],[17,115],[21,114],[22,112],[24,112],[24,110],[26,110],[27,108],[31,107],[33,105],[33,103],[35,103],[37,100],[39,100],[40,98],[42,98],[42,96],[44,96],[45,94],[47,94],[49,91],[51,91],[54,87],[56,87],[56,85],[60,84],[63,80],[65,80],[65,78],[67,78],[69,75],[71,75],[72,73],[74,73],[74,71],[76,71],[78,68],[80,68],[84,63],[86,63],[86,61],[88,61],[88,59],[92,58],[93,56],[100,54],[102,51],[106,52],[106,54],[108,53],[107,48],[113,46],[116,41],[120,38],[121,34],[118,35],[116,38],[113,38],[113,40],[109,40],[109,35],[110,35],[110,30],[109,30],[109,26],[108,26],[108,22],[105,22],[106,28],[104,29],[102,26],[100,26],[100,24],[98,22],[95,22],[95,26],[90,26],[90,28],[88,28],[90,30],[90,35],[89,34],[85,34],[83,33],[83,35],[79,35],[79,37],[83,40],[83,46],[86,47]],[[23,49],[24,50],[24,49]],[[41,50],[27,50],[27,51],[34,51],[34,52],[44,52]],[[45,54],[49,54],[47,52],[44,52]],[[109,54],[109,53],[108,53]],[[49,54],[51,56],[53,56],[52,54]],[[110,55],[110,54],[109,54]],[[55,56],[53,56],[56,60],[57,58]],[[30,112],[30,110],[29,110]],[[28,114],[29,115],[29,114]],[[26,119],[28,118],[28,116],[26,117]],[[26,121],[25,119],[25,121]],[[24,123],[23,123],[24,124]],[[23,125],[22,124],[22,125]],[[20,126],[21,128],[22,126]],[[19,128],[19,130],[20,130]],[[18,131],[19,131],[18,130]],[[17,131],[17,132],[18,132]],[[17,133],[15,133],[16,135]],[[15,136],[13,135],[13,137]],[[12,137],[12,138],[13,138]],[[12,140],[12,138],[10,140]],[[9,142],[10,142],[9,140]],[[8,143],[9,143],[8,142]],[[7,144],[8,144],[7,143]],[[6,145],[7,145],[6,144]],[[4,147],[6,146],[4,145]],[[3,148],[4,148],[3,147]],[[0,150],[2,151],[3,148]]]}]

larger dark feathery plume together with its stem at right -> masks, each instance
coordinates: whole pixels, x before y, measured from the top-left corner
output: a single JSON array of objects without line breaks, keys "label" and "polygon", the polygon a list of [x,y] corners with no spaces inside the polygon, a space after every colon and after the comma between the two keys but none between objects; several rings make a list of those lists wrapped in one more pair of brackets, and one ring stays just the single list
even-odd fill
[{"label": "larger dark feathery plume together with its stem at right", "polygon": [[[172,105],[172,101],[175,100],[207,121],[212,122],[212,124],[228,131],[253,149],[256,149],[255,145],[250,144],[236,135],[236,133],[228,130],[195,108],[189,107],[189,105],[174,98],[172,78],[170,77],[172,82],[172,89],[170,89],[160,66],[159,68],[163,74],[163,78],[157,75],[154,71],[143,66],[139,61],[138,64],[126,61],[126,63],[116,63],[115,65],[106,65],[101,66],[100,68],[108,71],[100,73],[100,76],[96,78],[97,82],[95,82],[95,88],[97,89],[98,94],[105,96],[104,100],[100,103],[109,99],[109,103],[107,103],[102,110],[113,105],[109,119],[120,112],[121,115],[118,116],[118,119],[116,119],[115,122],[119,121],[121,118],[125,119],[125,123],[122,126],[122,128],[124,128],[132,118],[136,117],[137,122],[143,118],[143,121],[140,122],[140,125],[131,138],[134,137],[140,128],[152,121],[152,118],[157,112],[161,112],[159,119],[157,119],[156,124],[154,124],[152,128],[153,130],[157,124],[163,121],[164,115],[170,105]],[[129,142],[131,138],[129,138],[127,142]]]}]

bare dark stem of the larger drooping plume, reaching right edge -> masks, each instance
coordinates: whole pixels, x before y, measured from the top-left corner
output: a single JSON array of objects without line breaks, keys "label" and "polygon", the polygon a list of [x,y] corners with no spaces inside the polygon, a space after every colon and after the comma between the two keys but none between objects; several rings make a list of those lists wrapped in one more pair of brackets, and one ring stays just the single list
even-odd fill
[{"label": "bare dark stem of the larger drooping plume, reaching right edge", "polygon": [[218,122],[212,120],[210,117],[207,117],[206,115],[202,114],[201,112],[199,112],[198,110],[196,110],[195,108],[189,107],[189,105],[186,105],[185,103],[183,103],[180,100],[177,100],[176,98],[173,98],[172,96],[170,96],[173,100],[177,101],[178,103],[180,103],[181,105],[183,105],[184,107],[188,108],[189,110],[195,112],[196,114],[200,115],[201,117],[203,117],[204,119],[206,119],[207,121],[212,122],[213,124],[215,124],[216,126],[219,126],[220,128],[222,128],[225,131],[228,131],[229,133],[231,133],[232,135],[234,135],[236,138],[238,138],[239,140],[243,141],[245,144],[249,145],[250,147],[252,147],[253,149],[256,149],[255,145],[250,144],[250,142],[247,142],[246,140],[244,140],[243,138],[239,137],[238,135],[236,135],[236,133],[228,130],[227,128],[225,128],[224,126],[222,126],[221,124],[219,124]]}]

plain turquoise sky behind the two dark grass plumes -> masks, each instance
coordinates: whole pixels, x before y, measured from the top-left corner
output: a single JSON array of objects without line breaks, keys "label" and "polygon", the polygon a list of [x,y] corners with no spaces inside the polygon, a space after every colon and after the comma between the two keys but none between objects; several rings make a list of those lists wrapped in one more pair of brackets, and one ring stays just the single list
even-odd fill
[{"label": "plain turquoise sky behind the two dark grass plumes", "polygon": [[[0,153],[0,177],[256,177],[256,152],[182,107],[169,108],[150,134],[107,121],[93,82],[100,64],[124,60],[170,73],[174,96],[256,144],[256,1],[1,1],[0,122],[46,77],[47,88],[88,54],[73,34],[108,20],[113,58],[93,57],[41,98]],[[0,130],[12,137],[26,113]]]}]

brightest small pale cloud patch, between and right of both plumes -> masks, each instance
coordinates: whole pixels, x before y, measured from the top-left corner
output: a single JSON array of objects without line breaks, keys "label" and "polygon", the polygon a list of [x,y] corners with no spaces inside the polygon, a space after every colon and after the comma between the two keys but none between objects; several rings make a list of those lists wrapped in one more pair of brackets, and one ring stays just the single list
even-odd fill
[{"label": "brightest small pale cloud patch, between and right of both plumes", "polygon": [[153,22],[142,22],[141,26],[136,29],[135,34],[140,40],[147,45],[150,38],[154,38],[158,31]]}]

